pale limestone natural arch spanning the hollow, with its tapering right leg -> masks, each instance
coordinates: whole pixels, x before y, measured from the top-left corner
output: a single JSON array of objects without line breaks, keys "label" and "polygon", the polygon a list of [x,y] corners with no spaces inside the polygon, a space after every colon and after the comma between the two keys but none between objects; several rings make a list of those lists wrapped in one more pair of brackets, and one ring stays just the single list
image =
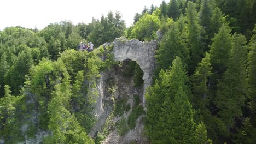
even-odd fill
[{"label": "pale limestone natural arch spanning the hollow, with its tapering right leg", "polygon": [[154,56],[157,45],[158,41],[156,40],[142,42],[132,39],[128,41],[125,37],[117,38],[114,41],[114,61],[131,59],[143,70],[143,104],[145,103],[144,94],[146,92],[146,88],[152,83],[153,70],[155,68]]}]

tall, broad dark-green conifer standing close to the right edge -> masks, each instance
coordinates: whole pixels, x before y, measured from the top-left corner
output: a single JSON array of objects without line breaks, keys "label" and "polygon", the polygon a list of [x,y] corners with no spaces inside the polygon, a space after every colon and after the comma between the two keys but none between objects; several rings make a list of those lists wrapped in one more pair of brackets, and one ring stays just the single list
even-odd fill
[{"label": "tall, broad dark-green conifer standing close to the right edge", "polygon": [[242,116],[246,93],[246,40],[241,34],[232,36],[232,48],[229,52],[227,70],[218,83],[216,105],[220,119],[229,128],[234,127],[235,117]]}]

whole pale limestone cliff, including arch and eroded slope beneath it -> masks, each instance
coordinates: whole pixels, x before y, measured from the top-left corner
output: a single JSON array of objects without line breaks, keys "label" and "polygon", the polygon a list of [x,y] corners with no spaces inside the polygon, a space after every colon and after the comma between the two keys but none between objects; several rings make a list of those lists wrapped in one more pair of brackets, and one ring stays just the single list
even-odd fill
[{"label": "whole pale limestone cliff, including arch and eroded slope beneath it", "polygon": [[[101,73],[98,80],[99,97],[97,99],[96,117],[98,119],[95,127],[91,130],[90,136],[97,137],[104,135],[102,143],[146,143],[147,139],[143,136],[144,114],[137,117],[135,128],[129,129],[125,134],[120,135],[118,127],[121,119],[129,121],[132,110],[135,109],[135,95],[139,95],[139,105],[145,104],[144,94],[146,88],[152,83],[153,70],[155,68],[155,50],[158,41],[152,40],[139,41],[136,39],[127,40],[125,37],[117,38],[113,43],[106,43],[103,46],[114,45],[114,61],[121,62],[119,66],[115,65],[112,69]],[[135,61],[143,70],[143,87],[136,88],[133,80],[124,77],[121,71],[125,71],[127,59]],[[123,62],[122,62],[123,61]],[[111,81],[111,83],[109,83]],[[124,101],[125,99],[125,101]],[[130,106],[121,115],[114,115],[115,107],[122,101],[122,105]]]}]

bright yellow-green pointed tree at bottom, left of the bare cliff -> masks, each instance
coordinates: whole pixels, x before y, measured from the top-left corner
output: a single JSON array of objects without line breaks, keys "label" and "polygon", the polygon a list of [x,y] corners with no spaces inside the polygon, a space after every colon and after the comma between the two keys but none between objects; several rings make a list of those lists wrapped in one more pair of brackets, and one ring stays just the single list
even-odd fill
[{"label": "bright yellow-green pointed tree at bottom, left of the bare cliff", "polygon": [[[67,79],[64,78],[64,79]],[[53,99],[49,104],[50,112],[49,129],[53,132],[52,136],[46,139],[45,143],[94,143],[94,141],[80,127],[77,119],[68,110],[71,92],[69,83],[62,82],[55,86]]]}]

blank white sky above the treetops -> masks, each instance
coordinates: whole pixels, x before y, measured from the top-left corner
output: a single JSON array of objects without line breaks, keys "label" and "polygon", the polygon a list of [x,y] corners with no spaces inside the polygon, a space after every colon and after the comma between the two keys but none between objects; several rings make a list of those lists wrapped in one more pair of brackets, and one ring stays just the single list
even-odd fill
[{"label": "blank white sky above the treetops", "polygon": [[126,26],[133,22],[135,13],[144,6],[159,7],[162,0],[1,0],[0,30],[5,27],[21,26],[43,29],[50,23],[70,20],[74,25],[89,23],[92,17],[100,19],[108,11],[120,11]]}]

